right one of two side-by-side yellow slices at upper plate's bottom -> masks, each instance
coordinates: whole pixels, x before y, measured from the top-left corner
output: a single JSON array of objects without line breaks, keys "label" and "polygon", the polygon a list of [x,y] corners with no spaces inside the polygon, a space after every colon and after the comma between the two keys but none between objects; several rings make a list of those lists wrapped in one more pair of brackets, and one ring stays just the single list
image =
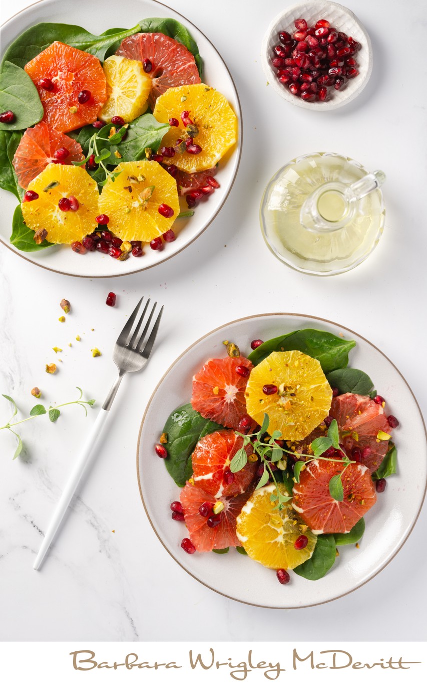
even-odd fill
[{"label": "right one of two side-by-side yellow slices at upper plate's bottom", "polygon": [[[122,240],[153,240],[166,233],[179,214],[177,184],[157,162],[121,162],[118,176],[108,179],[99,209],[108,227]],[[162,206],[167,206],[164,210]],[[160,211],[159,211],[160,210]],[[164,214],[161,214],[164,211]]]}]

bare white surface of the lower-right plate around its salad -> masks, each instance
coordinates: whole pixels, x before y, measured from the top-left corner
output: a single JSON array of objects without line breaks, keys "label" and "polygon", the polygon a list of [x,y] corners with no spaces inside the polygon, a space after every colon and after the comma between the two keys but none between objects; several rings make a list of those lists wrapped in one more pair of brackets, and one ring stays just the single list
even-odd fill
[{"label": "bare white surface of the lower-right plate around its salad", "polygon": [[[185,527],[170,519],[170,503],[179,499],[179,488],[155,456],[153,446],[170,412],[190,401],[192,375],[209,357],[224,356],[222,340],[233,340],[250,352],[250,340],[268,340],[298,328],[316,328],[357,341],[350,365],[372,377],[387,399],[387,410],[400,421],[393,433],[398,447],[398,474],[387,481],[385,493],[365,516],[366,530],[360,549],[340,548],[333,569],[317,581],[292,573],[283,586],[276,574],[234,549],[228,554],[195,553],[180,547]],[[238,601],[269,608],[301,608],[346,595],[370,580],[396,555],[411,533],[426,493],[426,427],[411,388],[396,366],[372,343],[350,329],[325,319],[302,314],[263,314],[224,325],[189,347],[170,366],[155,389],[140,429],[137,453],[138,480],[148,519],[160,542],[177,563],[196,580]],[[415,477],[414,477],[415,474]]]}]

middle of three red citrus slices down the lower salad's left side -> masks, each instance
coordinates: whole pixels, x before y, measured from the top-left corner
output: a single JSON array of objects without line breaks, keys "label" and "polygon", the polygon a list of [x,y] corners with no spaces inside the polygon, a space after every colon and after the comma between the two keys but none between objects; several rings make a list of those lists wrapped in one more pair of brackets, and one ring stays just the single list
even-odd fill
[{"label": "middle of three red citrus slices down the lower salad's left side", "polygon": [[[193,478],[213,497],[234,497],[248,489],[255,476],[257,462],[247,462],[242,471],[231,473],[230,462],[243,447],[243,439],[232,430],[210,433],[198,441],[192,453]],[[253,453],[247,445],[248,456]]]}]

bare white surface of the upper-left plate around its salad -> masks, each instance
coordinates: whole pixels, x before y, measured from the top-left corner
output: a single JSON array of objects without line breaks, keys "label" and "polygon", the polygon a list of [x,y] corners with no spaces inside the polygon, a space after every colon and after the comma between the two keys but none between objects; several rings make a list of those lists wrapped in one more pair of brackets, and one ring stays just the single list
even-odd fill
[{"label": "bare white surface of the upper-left plate around its salad", "polygon": [[[118,262],[99,252],[88,252],[83,256],[77,255],[68,246],[52,247],[35,253],[16,250],[9,242],[16,198],[12,193],[0,189],[1,242],[21,257],[38,264],[38,266],[43,266],[44,269],[91,278],[118,276],[149,269],[151,266],[164,262],[181,252],[187,245],[190,245],[190,242],[200,236],[222,208],[231,186],[233,186],[242,149],[242,113],[233,79],[227,65],[208,38],[185,17],[166,5],[155,0],[122,0],[120,3],[117,3],[117,0],[103,0],[102,3],[99,0],[86,0],[77,3],[75,0],[42,0],[23,10],[23,12],[19,12],[3,25],[1,29],[1,51],[3,54],[10,42],[19,34],[42,21],[76,24],[94,34],[101,34],[106,29],[115,26],[135,26],[138,21],[151,16],[170,16],[187,26],[190,34],[196,40],[200,55],[203,58],[203,79],[227,97],[239,119],[239,141],[233,151],[227,155],[227,161],[220,162],[220,169],[216,176],[221,187],[213,195],[210,195],[207,201],[198,204],[194,216],[190,219],[179,219],[174,223],[173,229],[177,234],[177,240],[166,243],[163,251],[153,251],[148,247],[144,250],[144,256],[129,258],[125,262]],[[185,208],[187,208],[187,204],[183,199],[183,209]]]}]

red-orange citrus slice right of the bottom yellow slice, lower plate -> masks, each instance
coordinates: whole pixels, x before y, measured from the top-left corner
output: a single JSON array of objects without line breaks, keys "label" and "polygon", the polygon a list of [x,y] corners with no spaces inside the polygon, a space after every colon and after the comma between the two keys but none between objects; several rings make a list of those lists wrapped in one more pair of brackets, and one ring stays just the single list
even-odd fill
[{"label": "red-orange citrus slice right of the bottom yellow slice, lower plate", "polygon": [[[294,485],[292,506],[313,533],[348,533],[375,504],[372,478],[363,464],[345,464],[315,459],[302,469],[300,482]],[[333,499],[329,481],[343,473],[344,499]]]}]

